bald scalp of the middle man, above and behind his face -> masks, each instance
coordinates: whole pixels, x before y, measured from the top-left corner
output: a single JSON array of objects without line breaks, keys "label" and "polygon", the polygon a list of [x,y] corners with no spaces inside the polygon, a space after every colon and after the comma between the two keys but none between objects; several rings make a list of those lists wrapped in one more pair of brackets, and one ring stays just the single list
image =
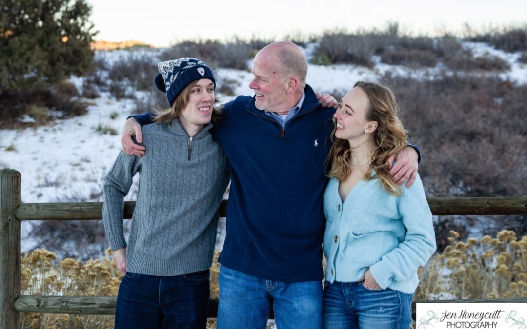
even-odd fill
[{"label": "bald scalp of the middle man, above and behind his face", "polygon": [[277,63],[282,76],[296,76],[303,91],[306,86],[307,58],[300,48],[289,41],[271,43],[262,48],[255,56],[269,56],[271,61]]}]

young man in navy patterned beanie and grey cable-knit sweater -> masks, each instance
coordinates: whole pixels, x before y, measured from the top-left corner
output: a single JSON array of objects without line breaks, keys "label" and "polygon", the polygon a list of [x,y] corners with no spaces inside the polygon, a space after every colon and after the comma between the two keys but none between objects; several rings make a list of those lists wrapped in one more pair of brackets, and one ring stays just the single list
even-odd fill
[{"label": "young man in navy patterned beanie and grey cable-knit sweater", "polygon": [[[104,230],[124,274],[115,328],[206,328],[217,209],[229,182],[212,138],[215,80],[195,58],[159,63],[170,108],[143,129],[142,157],[121,151],[104,180]],[[128,244],[123,199],[139,173]],[[177,204],[177,206],[175,206]]]}]

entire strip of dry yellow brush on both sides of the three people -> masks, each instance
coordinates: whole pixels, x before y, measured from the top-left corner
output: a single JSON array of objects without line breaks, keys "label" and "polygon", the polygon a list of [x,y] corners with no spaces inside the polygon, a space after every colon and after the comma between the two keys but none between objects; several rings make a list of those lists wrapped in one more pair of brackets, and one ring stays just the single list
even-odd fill
[{"label": "entire strip of dry yellow brush on both sides of the three people", "polygon": [[[527,236],[520,240],[512,231],[480,240],[450,232],[449,245],[419,268],[414,300],[506,298],[527,296]],[[210,273],[210,297],[219,297],[219,252]],[[23,295],[116,296],[122,274],[106,251],[102,260],[85,263],[57,256],[44,249],[22,255]],[[23,313],[22,328],[111,328],[113,316],[79,316]],[[216,327],[210,319],[208,328]]]}]

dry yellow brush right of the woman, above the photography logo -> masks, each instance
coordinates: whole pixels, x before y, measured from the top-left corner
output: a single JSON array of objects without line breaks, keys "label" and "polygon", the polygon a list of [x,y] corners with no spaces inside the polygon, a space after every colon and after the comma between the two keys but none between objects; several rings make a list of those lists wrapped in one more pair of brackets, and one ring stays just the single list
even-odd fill
[{"label": "dry yellow brush right of the woman, above the photography logo", "polygon": [[419,269],[415,300],[527,297],[527,236],[503,230],[495,238],[450,244]]}]

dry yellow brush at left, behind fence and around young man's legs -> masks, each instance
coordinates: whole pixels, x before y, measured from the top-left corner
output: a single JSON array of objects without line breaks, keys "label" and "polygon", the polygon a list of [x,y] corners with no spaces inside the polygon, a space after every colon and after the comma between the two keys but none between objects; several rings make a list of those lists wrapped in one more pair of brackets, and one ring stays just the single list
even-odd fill
[{"label": "dry yellow brush at left, behind fence and around young man's legs", "polygon": [[[210,269],[210,298],[219,297],[219,252]],[[48,296],[117,296],[123,275],[115,266],[110,249],[102,260],[81,262],[72,258],[58,261],[56,254],[36,249],[22,254],[22,295]],[[113,328],[109,315],[67,315],[21,313],[22,329],[101,329]],[[208,328],[216,328],[210,319]]]}]

